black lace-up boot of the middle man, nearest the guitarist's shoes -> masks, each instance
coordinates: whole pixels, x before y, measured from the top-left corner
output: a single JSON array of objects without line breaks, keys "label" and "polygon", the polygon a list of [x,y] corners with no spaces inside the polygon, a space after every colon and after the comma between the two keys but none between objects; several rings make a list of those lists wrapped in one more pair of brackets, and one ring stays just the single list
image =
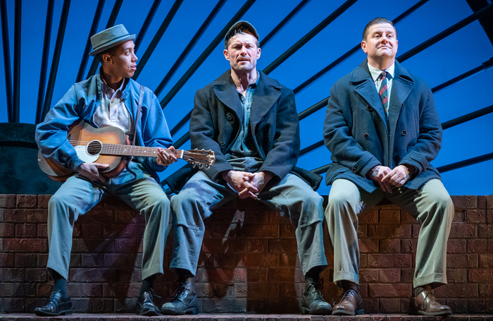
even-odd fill
[{"label": "black lace-up boot of the middle man, nearest the guitarist's shoes", "polygon": [[175,296],[171,302],[163,304],[161,313],[163,315],[196,315],[199,313],[199,301],[197,301],[193,277],[183,282],[178,281]]}]

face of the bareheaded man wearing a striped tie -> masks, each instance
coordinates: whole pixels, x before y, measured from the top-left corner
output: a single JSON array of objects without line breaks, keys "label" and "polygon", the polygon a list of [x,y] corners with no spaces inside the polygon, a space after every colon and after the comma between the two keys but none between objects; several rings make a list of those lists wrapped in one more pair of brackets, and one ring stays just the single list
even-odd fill
[{"label": "face of the bareheaded man wearing a striped tie", "polygon": [[381,60],[395,58],[397,54],[397,35],[389,23],[378,23],[368,28],[366,39],[361,42],[361,49],[368,59]]}]

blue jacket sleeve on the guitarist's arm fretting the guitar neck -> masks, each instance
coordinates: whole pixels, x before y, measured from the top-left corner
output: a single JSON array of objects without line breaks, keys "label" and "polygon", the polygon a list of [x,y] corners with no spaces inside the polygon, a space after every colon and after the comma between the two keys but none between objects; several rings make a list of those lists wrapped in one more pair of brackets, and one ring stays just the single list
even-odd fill
[{"label": "blue jacket sleeve on the guitarist's arm fretting the guitar neck", "polygon": [[[149,95],[146,95],[146,97],[148,99],[148,113],[145,118],[142,117],[140,119],[144,146],[168,148],[173,144],[173,139],[168,129],[168,123],[166,123],[166,119],[164,118],[161,104],[159,104],[156,95],[150,90]],[[166,169],[166,166],[158,165],[156,157],[144,157],[143,162],[151,167],[151,169],[154,169],[154,171],[163,171]]]}]

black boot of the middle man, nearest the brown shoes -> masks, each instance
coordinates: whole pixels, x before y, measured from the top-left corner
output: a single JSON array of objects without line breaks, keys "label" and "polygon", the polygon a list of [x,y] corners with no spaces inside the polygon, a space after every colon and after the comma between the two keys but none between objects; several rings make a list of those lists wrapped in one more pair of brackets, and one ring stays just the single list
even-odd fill
[{"label": "black boot of the middle man, nearest the brown shoes", "polygon": [[323,279],[305,279],[305,291],[301,298],[302,315],[330,315],[332,307],[325,302],[322,296]]}]

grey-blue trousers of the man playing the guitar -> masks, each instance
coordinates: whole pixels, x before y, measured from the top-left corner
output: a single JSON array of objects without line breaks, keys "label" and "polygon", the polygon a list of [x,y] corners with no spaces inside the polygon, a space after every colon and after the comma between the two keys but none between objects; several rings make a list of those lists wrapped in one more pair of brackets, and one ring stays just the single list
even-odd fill
[{"label": "grey-blue trousers of the man playing the guitar", "polygon": [[[131,163],[133,164],[133,163]],[[78,174],[68,178],[48,203],[47,268],[68,278],[73,226],[77,218],[92,209],[106,193],[118,196],[144,215],[144,250],[142,279],[163,273],[163,255],[170,217],[170,201],[154,178],[133,166],[135,176],[124,171],[105,183],[95,183]]]}]

